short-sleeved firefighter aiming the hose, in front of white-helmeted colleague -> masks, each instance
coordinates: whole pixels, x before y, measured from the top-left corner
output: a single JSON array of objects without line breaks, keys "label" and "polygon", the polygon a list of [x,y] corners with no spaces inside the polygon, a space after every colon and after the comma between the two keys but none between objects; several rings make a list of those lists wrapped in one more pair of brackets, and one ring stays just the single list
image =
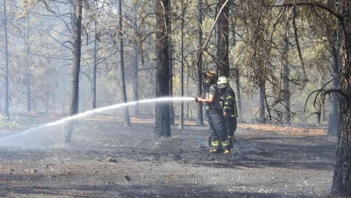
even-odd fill
[{"label": "short-sleeved firefighter aiming the hose, in front of white-helmeted colleague", "polygon": [[206,73],[205,87],[205,98],[196,97],[195,101],[205,103],[205,110],[213,143],[213,148],[210,152],[221,153],[224,151],[225,154],[230,154],[231,145],[228,139],[226,121],[223,117],[220,104],[220,92],[216,84],[216,73],[212,70]]}]

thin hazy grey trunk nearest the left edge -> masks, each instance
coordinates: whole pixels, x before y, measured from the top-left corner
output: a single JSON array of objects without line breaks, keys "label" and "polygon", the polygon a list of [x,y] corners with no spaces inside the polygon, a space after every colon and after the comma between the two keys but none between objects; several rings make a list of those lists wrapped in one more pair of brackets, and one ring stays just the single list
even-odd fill
[{"label": "thin hazy grey trunk nearest the left edge", "polygon": [[4,69],[4,80],[5,80],[5,115],[6,120],[10,120],[9,106],[10,106],[10,98],[9,98],[9,83],[8,83],[8,35],[7,35],[7,15],[6,15],[6,0],[3,0],[3,29],[4,29],[4,37],[5,37],[5,69]]}]

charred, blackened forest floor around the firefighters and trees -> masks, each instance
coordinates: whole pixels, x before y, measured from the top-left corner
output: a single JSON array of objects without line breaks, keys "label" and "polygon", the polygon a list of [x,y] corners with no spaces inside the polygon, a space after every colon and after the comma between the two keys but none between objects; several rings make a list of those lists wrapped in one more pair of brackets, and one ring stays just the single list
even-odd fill
[{"label": "charred, blackened forest floor around the firefighters and trees", "polygon": [[0,130],[0,197],[319,198],[332,186],[337,140],[325,127],[238,123],[225,155],[208,152],[208,127],[193,121],[156,138],[150,117],[131,118],[132,127],[86,117],[62,145],[62,125],[43,125],[62,116],[18,117],[20,129]]}]

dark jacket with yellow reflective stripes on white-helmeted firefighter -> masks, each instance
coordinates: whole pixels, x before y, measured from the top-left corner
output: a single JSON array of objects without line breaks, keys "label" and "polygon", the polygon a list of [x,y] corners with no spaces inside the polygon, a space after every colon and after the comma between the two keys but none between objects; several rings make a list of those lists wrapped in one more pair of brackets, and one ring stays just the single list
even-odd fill
[{"label": "dark jacket with yellow reflective stripes on white-helmeted firefighter", "polygon": [[235,94],[231,86],[229,84],[221,84],[218,88],[221,94],[221,101],[224,102],[224,105],[222,105],[223,111],[227,112],[231,117],[238,117]]}]

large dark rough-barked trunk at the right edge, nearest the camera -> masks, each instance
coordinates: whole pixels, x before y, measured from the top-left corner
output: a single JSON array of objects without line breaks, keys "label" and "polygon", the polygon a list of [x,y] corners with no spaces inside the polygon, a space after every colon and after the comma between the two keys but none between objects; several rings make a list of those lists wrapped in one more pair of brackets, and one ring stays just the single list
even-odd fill
[{"label": "large dark rough-barked trunk at the right edge, nearest the camera", "polygon": [[339,0],[343,18],[339,18],[342,37],[340,53],[342,55],[338,147],[331,193],[341,197],[351,197],[351,2]]}]

